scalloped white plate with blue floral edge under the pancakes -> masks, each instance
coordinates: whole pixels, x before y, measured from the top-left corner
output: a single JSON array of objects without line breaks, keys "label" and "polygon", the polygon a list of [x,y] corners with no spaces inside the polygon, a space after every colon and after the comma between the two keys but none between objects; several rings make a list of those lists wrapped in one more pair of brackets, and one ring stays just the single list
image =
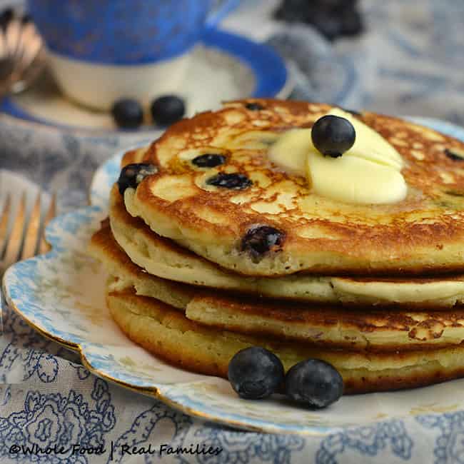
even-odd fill
[{"label": "scalloped white plate with blue floral edge under the pancakes", "polygon": [[[464,140],[464,129],[415,119]],[[45,336],[79,350],[96,375],[174,408],[249,430],[326,434],[348,425],[410,415],[444,414],[464,409],[464,380],[392,393],[346,396],[326,410],[311,411],[272,400],[241,400],[226,380],[197,375],[163,363],[121,333],[104,302],[105,274],[84,253],[91,233],[106,217],[109,189],[118,176],[122,153],[97,171],[93,206],[56,218],[47,229],[53,250],[17,263],[4,277],[6,301]]]}]

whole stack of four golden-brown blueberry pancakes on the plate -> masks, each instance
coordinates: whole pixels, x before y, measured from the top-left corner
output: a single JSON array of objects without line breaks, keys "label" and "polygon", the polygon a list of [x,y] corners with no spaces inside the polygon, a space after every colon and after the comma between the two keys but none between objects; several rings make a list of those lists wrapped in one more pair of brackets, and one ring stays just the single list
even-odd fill
[{"label": "whole stack of four golden-brown blueberry pancakes on the plate", "polygon": [[106,301],[129,338],[225,378],[248,346],[272,350],[286,370],[320,358],[346,393],[464,376],[464,144],[356,114],[400,153],[408,193],[334,201],[268,158],[282,133],[330,110],[234,101],[126,153],[121,167],[156,173],[115,183],[90,251],[109,271]]}]

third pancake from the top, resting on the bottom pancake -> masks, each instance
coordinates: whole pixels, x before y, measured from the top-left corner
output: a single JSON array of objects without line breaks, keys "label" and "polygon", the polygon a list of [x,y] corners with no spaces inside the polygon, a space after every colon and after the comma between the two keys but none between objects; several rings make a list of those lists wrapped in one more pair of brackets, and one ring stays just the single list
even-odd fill
[{"label": "third pancake from the top, resting on the bottom pancake", "polygon": [[114,278],[112,292],[134,292],[167,303],[186,318],[223,330],[279,341],[365,351],[434,350],[464,341],[464,308],[453,311],[382,311],[268,298],[240,298],[157,278],[136,266],[118,246],[108,224],[89,251]]}]

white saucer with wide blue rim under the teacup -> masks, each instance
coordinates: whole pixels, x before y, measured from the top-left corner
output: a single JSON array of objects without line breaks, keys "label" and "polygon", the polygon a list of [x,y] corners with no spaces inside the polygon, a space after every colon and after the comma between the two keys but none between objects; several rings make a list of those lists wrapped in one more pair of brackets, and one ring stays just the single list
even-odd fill
[{"label": "white saucer with wide blue rim under the teacup", "polygon": [[[192,53],[188,78],[175,92],[186,101],[186,116],[217,109],[221,101],[248,96],[285,98],[291,90],[283,61],[267,46],[242,36],[211,29]],[[60,128],[117,130],[111,114],[66,99],[49,75],[23,94],[4,99],[0,110],[15,118]],[[147,118],[138,133],[154,129],[159,128]],[[135,135],[123,131],[128,132]]]}]

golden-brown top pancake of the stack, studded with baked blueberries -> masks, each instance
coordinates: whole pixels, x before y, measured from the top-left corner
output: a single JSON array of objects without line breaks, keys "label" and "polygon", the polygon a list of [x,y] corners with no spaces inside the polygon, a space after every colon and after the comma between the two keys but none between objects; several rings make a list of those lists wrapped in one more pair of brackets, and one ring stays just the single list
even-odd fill
[{"label": "golden-brown top pancake of the stack, studded with baked blueberries", "polygon": [[[306,272],[404,275],[464,270],[464,143],[407,121],[363,113],[403,157],[405,200],[388,205],[333,201],[311,191],[306,178],[268,161],[278,133],[311,127],[331,106],[251,100],[226,104],[168,128],[139,158],[158,166],[124,193],[126,208],[153,231],[224,268],[251,276]],[[191,159],[220,153],[226,163],[198,168]],[[127,156],[125,162],[133,161]],[[242,190],[206,185],[218,172],[251,180]],[[283,233],[261,256],[243,251],[253,226]]]}]

